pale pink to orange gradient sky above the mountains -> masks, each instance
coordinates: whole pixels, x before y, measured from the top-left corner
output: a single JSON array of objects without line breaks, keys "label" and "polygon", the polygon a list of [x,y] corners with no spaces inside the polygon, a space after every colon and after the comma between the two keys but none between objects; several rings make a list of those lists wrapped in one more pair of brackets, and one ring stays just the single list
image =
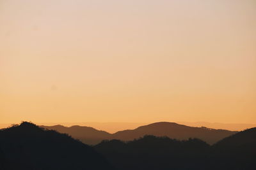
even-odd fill
[{"label": "pale pink to orange gradient sky above the mountains", "polygon": [[256,123],[255,0],[0,0],[0,123]]}]

